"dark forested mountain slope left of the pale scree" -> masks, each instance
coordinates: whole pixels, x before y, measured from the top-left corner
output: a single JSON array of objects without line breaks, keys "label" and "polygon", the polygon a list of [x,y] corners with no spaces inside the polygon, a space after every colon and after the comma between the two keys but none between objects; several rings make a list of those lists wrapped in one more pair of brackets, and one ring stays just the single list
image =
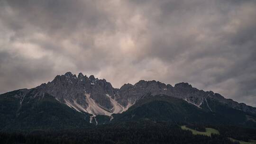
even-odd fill
[{"label": "dark forested mountain slope left of the pale scree", "polygon": [[[90,126],[90,114],[77,112],[37,90],[16,90],[0,95],[0,130],[66,129]],[[22,100],[20,100],[22,97]]]}]

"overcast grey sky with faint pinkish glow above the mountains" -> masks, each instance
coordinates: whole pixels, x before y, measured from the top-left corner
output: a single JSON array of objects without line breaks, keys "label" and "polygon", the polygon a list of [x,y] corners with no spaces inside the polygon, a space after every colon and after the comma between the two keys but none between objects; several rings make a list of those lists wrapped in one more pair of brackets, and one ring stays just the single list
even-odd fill
[{"label": "overcast grey sky with faint pinkish glow above the mountains", "polygon": [[0,93],[68,71],[256,107],[256,0],[0,0]]}]

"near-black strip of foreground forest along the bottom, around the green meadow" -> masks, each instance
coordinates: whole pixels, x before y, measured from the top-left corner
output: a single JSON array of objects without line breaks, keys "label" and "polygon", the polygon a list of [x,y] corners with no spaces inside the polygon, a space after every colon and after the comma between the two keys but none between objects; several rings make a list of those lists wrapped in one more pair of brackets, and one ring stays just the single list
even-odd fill
[{"label": "near-black strip of foreground forest along the bottom, around the green meadow", "polygon": [[191,131],[182,130],[179,124],[139,121],[81,129],[0,133],[0,142],[1,144],[238,144],[231,142],[228,137],[244,141],[256,138],[256,129],[235,126],[211,127],[217,128],[220,135],[192,135]]}]

